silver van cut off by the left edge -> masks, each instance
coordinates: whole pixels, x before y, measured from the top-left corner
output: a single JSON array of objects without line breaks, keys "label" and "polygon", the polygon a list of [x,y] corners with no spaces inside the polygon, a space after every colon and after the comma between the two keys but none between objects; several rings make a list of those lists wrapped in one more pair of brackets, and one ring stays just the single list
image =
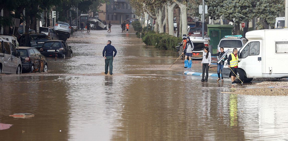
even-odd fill
[{"label": "silver van cut off by the left edge", "polygon": [[21,74],[22,63],[20,53],[17,53],[14,44],[0,39],[0,73]]}]

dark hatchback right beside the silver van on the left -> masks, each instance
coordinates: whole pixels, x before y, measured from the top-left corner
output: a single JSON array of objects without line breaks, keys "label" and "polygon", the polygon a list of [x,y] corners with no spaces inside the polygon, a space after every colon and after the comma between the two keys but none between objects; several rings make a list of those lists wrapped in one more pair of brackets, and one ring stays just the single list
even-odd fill
[{"label": "dark hatchback right beside the silver van on the left", "polygon": [[20,52],[22,72],[47,72],[46,58],[34,47],[16,48]]}]

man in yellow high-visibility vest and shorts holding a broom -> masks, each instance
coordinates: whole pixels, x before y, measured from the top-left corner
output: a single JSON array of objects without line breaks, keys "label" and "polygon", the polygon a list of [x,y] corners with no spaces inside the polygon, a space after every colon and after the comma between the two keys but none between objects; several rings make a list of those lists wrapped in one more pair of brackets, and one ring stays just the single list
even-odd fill
[{"label": "man in yellow high-visibility vest and shorts holding a broom", "polygon": [[235,82],[235,78],[236,78],[236,75],[237,72],[238,72],[238,63],[240,62],[238,60],[238,50],[237,48],[234,48],[233,49],[233,53],[231,53],[227,59],[227,64],[228,64],[228,67],[230,67],[231,69],[231,80],[232,80],[232,85],[235,85],[236,82]]}]

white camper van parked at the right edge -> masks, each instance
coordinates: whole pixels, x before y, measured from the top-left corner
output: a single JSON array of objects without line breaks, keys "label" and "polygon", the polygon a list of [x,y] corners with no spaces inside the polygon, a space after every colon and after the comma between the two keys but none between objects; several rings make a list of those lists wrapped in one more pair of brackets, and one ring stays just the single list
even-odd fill
[{"label": "white camper van parked at the right edge", "polygon": [[[238,77],[245,82],[253,78],[288,78],[288,36],[285,35],[288,28],[247,32],[248,42],[238,50]],[[223,68],[223,77],[230,76],[230,68]],[[240,82],[238,78],[236,82]]]}]

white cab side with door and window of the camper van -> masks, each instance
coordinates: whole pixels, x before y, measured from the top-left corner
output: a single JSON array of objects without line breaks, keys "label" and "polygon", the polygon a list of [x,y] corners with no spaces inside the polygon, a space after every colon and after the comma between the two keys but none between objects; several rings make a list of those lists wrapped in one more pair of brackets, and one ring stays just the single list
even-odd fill
[{"label": "white cab side with door and window of the camper van", "polygon": [[262,77],[261,44],[261,40],[253,40],[240,49],[238,66],[244,69],[247,78]]}]

